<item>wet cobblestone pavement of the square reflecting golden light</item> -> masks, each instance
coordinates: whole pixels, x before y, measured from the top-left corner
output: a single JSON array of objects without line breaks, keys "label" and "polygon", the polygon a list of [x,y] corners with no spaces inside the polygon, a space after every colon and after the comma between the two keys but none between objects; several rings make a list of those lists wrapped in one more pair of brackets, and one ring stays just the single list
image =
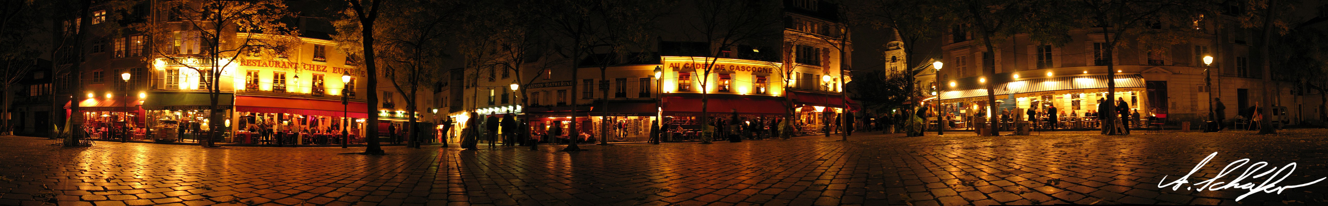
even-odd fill
[{"label": "wet cobblestone pavement of the square reflecting golden light", "polygon": [[61,148],[3,136],[0,205],[1328,205],[1328,182],[1239,202],[1240,189],[1158,189],[1162,176],[1185,176],[1212,152],[1220,153],[1191,182],[1239,158],[1299,162],[1280,185],[1328,177],[1328,129],[1283,133],[858,133],[572,153],[386,147],[385,156],[108,141]]}]

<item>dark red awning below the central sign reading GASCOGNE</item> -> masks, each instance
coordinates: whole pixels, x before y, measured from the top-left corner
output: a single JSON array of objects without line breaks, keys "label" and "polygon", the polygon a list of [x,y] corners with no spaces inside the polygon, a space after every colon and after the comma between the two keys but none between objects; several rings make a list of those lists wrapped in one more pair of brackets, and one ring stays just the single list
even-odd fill
[{"label": "dark red awning below the central sign reading GASCOGNE", "polygon": [[[709,99],[709,116],[728,116],[730,110],[737,110],[738,115],[757,116],[784,116],[784,102],[773,99]],[[664,115],[667,116],[701,116],[701,99],[667,96],[664,98]]]}]

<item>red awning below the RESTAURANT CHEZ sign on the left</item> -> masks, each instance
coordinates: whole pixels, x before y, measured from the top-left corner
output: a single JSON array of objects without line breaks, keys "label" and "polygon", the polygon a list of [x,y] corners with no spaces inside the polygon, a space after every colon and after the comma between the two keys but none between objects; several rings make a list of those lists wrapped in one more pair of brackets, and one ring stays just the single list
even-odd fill
[{"label": "red awning below the RESTAURANT CHEZ sign on the left", "polygon": [[235,95],[235,111],[242,112],[369,118],[365,107],[363,102],[343,106],[340,100]]}]

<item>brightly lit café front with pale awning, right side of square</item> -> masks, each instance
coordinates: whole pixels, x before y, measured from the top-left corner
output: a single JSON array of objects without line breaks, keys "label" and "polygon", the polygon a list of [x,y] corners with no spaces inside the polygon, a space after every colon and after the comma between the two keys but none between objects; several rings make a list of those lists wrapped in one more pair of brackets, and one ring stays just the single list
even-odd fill
[{"label": "brightly lit caf\u00e9 front with pale awning, right side of square", "polygon": [[[1146,88],[1139,75],[1116,75],[1116,98],[1108,100],[1117,103],[1123,100],[1129,104],[1130,114],[1138,116],[1151,116],[1146,110]],[[972,128],[983,124],[983,119],[995,118],[1003,123],[1013,120],[1028,120],[1027,111],[1035,112],[1037,127],[1040,128],[1097,128],[1101,115],[1118,114],[1098,111],[1100,99],[1106,100],[1110,92],[1106,85],[1106,75],[1085,77],[1057,77],[1038,79],[1019,79],[1003,83],[996,87],[996,107],[988,106],[985,90],[972,88],[960,91],[946,91],[940,96],[940,111],[947,120],[948,128]],[[1056,107],[1056,124],[1052,125],[1048,114],[1050,107]],[[1001,114],[1019,116],[1020,108],[1025,112],[1024,119],[1000,119]],[[1131,115],[1133,118],[1134,115]],[[935,119],[931,119],[935,120]],[[1137,120],[1137,119],[1135,119]],[[936,121],[931,121],[938,124]],[[1008,125],[1008,124],[1003,124]]]}]

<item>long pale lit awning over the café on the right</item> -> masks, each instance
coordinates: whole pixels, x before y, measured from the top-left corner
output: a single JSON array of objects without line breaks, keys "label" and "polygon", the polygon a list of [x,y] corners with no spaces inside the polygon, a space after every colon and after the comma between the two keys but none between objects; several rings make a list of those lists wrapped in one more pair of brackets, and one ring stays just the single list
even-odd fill
[{"label": "long pale lit awning over the caf\u00e9 on the right", "polygon": [[[1143,77],[1138,74],[1116,75],[1116,91],[1143,91]],[[996,95],[1013,94],[1016,98],[1033,95],[1106,92],[1106,75],[1056,77],[1021,79],[996,86]],[[1003,96],[999,96],[1003,98]],[[987,90],[960,90],[940,94],[942,103],[987,100]]]}]

